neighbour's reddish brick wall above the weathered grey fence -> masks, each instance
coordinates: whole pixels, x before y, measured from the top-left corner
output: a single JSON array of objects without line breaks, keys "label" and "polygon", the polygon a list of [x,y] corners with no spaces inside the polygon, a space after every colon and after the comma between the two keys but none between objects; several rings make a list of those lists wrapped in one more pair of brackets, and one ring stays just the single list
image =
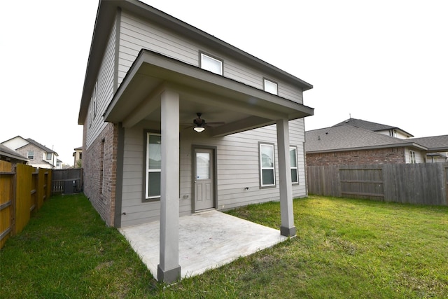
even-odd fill
[{"label": "neighbour's reddish brick wall above the weathered grey fence", "polygon": [[405,148],[378,148],[363,151],[307,153],[307,166],[369,165],[405,163]]}]

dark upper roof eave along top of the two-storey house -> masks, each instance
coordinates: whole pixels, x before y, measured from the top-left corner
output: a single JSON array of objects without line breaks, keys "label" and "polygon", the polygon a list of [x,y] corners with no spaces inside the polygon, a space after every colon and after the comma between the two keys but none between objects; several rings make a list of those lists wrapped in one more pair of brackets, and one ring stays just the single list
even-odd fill
[{"label": "dark upper roof eave along top of the two-storey house", "polygon": [[83,125],[87,116],[87,110],[90,102],[90,96],[94,88],[95,79],[97,77],[99,68],[102,63],[102,56],[104,55],[107,46],[107,40],[111,32],[111,25],[116,21],[116,13],[118,8],[122,8],[130,13],[138,15],[140,18],[151,20],[170,31],[176,32],[181,36],[188,36],[189,39],[195,40],[203,47],[225,52],[235,60],[241,63],[251,65],[256,69],[265,69],[266,74],[281,78],[284,81],[291,82],[300,86],[302,90],[309,90],[313,85],[302,81],[286,71],[272,66],[260,60],[259,58],[250,55],[239,48],[236,48],[215,36],[208,34],[192,25],[187,24],[177,18],[172,17],[162,11],[159,11],[152,6],[144,4],[137,0],[123,0],[123,1],[99,1],[97,18],[95,20],[94,31],[92,36],[92,43],[90,45],[89,58],[87,60],[87,69],[85,71],[83,93],[81,95],[80,109],[78,114],[78,124]]}]

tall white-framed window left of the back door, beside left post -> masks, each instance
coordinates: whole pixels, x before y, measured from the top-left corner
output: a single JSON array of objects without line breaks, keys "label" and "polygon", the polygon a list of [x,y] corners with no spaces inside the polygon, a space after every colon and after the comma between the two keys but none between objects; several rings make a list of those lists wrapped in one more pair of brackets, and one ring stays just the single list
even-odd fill
[{"label": "tall white-framed window left of the back door, beside left post", "polygon": [[160,198],[162,169],[162,139],[160,134],[146,134],[146,199]]}]

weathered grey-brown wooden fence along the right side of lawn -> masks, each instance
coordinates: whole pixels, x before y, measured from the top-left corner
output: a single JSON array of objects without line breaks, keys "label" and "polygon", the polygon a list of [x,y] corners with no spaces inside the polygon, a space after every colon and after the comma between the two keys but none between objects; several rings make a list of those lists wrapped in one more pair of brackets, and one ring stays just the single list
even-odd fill
[{"label": "weathered grey-brown wooden fence along the right side of lawn", "polygon": [[448,163],[307,167],[310,194],[448,205]]}]

